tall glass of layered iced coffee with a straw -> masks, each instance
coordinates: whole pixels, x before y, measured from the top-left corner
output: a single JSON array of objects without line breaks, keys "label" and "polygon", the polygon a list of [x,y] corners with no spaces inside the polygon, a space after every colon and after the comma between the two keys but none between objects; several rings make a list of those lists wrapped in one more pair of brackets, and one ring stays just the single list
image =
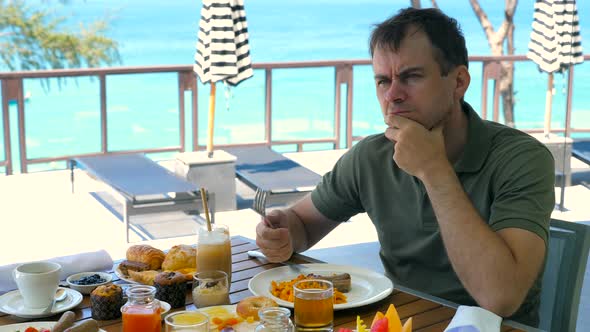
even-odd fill
[{"label": "tall glass of layered iced coffee with a straw", "polygon": [[197,272],[220,270],[231,285],[231,242],[226,225],[201,226],[197,235]]}]

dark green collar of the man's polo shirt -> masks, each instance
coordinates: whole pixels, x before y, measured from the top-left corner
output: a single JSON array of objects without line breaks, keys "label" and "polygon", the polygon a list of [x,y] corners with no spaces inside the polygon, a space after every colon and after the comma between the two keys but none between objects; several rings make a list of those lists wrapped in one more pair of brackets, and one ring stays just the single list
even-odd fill
[{"label": "dark green collar of the man's polo shirt", "polygon": [[467,115],[467,142],[463,154],[455,163],[455,172],[477,172],[481,169],[490,151],[491,140],[489,129],[471,105],[462,103],[463,112]]}]

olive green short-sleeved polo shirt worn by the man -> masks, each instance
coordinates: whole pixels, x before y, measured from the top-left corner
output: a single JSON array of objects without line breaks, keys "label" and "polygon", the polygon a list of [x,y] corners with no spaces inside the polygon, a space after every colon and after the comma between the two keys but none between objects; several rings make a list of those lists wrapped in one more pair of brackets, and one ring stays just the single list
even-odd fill
[{"label": "olive green short-sleeved polo shirt worn by the man", "polygon": [[[555,205],[554,161],[538,140],[484,121],[464,103],[467,144],[454,169],[463,189],[490,228],[522,228],[547,243]],[[366,212],[377,229],[380,256],[394,283],[450,301],[476,305],[455,274],[422,182],[393,161],[384,134],[352,147],[312,193],[326,217],[345,221]],[[540,278],[513,318],[536,325]]]}]

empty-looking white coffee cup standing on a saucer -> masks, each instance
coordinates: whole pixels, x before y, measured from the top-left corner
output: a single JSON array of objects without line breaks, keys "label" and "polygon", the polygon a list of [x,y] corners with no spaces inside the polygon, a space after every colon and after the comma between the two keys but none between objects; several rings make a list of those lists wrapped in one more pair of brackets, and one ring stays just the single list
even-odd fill
[{"label": "empty-looking white coffee cup standing on a saucer", "polygon": [[47,308],[53,303],[60,271],[61,265],[53,262],[24,263],[13,270],[25,307]]}]

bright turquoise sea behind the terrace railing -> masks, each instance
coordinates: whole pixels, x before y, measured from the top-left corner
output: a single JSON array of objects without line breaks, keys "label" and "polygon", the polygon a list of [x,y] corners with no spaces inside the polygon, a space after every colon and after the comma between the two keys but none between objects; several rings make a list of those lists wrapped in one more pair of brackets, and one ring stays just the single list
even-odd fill
[{"label": "bright turquoise sea behind the terrace railing", "polygon": [[[488,55],[490,49],[468,0],[439,0],[440,8],[458,19],[470,55]],[[201,1],[195,0],[86,0],[28,1],[50,6],[68,17],[66,26],[110,17],[108,35],[119,42],[122,66],[192,64]],[[480,0],[497,28],[503,20],[504,1]],[[246,0],[253,62],[332,59],[368,59],[367,39],[373,24],[410,4],[409,0]],[[423,0],[422,5],[430,1]],[[521,0],[516,11],[516,53],[525,54],[531,31],[534,0]],[[590,1],[578,1],[584,53],[590,53]],[[470,65],[472,83],[466,100],[480,107],[481,65]],[[6,70],[0,67],[1,70]],[[374,94],[370,66],[354,70],[354,135],[383,130]],[[100,149],[98,80],[25,81],[28,158],[97,152]],[[564,125],[567,77],[557,75],[552,126]],[[535,64],[517,63],[515,73],[516,125],[542,128],[547,75]],[[216,143],[264,139],[264,72],[231,90],[226,105],[219,86]],[[165,147],[178,142],[177,79],[174,74],[110,76],[107,79],[109,148],[112,150]],[[490,87],[491,89],[491,87]],[[209,86],[199,82],[199,142],[206,142]],[[590,63],[575,67],[574,127],[590,127]],[[273,72],[273,138],[316,138],[332,135],[334,70],[284,69]],[[491,90],[490,90],[491,92]],[[188,107],[187,107],[188,108]],[[491,100],[488,106],[491,109]],[[490,111],[491,113],[491,111]],[[18,160],[16,107],[10,109],[13,159]],[[187,125],[190,114],[187,114]],[[188,128],[187,128],[188,129]],[[0,130],[2,130],[0,126]],[[188,131],[187,131],[188,132]],[[0,134],[0,142],[2,139]],[[190,142],[191,137],[187,137]],[[187,145],[190,147],[190,145]],[[325,147],[325,146],[324,146]],[[3,142],[0,156],[4,155]],[[285,147],[289,149],[292,147]],[[307,149],[322,148],[310,146]],[[47,168],[47,165],[30,170]],[[64,164],[49,167],[63,168]],[[18,164],[14,167],[18,170]],[[1,171],[1,169],[0,169]]]}]

